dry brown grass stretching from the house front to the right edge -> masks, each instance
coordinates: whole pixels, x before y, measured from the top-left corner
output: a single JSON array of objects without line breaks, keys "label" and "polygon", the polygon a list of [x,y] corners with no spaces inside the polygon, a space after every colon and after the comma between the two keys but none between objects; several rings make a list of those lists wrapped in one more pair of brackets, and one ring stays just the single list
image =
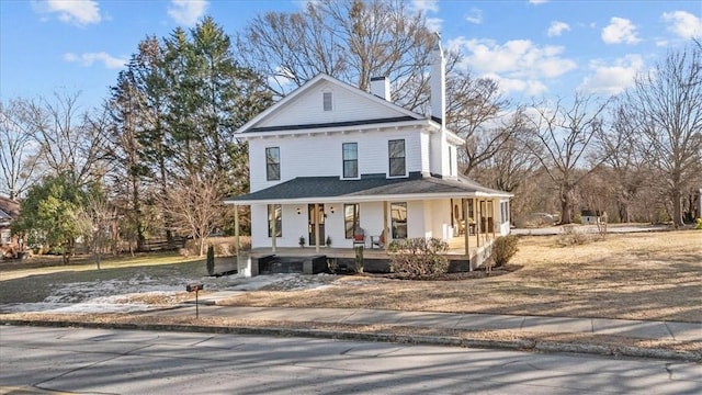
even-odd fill
[{"label": "dry brown grass stretching from the house front to the right edge", "polygon": [[511,269],[456,281],[356,275],[340,286],[261,290],[225,303],[702,323],[699,230],[612,234],[573,247],[559,247],[557,236],[526,236]]}]

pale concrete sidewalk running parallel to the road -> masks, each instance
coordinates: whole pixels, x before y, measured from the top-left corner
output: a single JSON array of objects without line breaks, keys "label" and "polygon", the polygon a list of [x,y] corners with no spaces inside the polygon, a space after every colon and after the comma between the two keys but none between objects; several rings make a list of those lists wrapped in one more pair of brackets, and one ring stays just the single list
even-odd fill
[{"label": "pale concrete sidewalk running parallel to the road", "polygon": [[[702,324],[678,321],[649,321],[611,318],[567,318],[517,316],[499,314],[452,314],[430,312],[401,312],[365,308],[296,308],[296,307],[239,307],[219,306],[218,300],[235,296],[237,292],[218,292],[200,300],[202,317],[283,320],[296,323],[364,324],[411,326],[442,329],[508,329],[524,332],[610,335],[638,339],[700,341]],[[183,307],[143,313],[152,316],[194,316],[194,302]]]}]

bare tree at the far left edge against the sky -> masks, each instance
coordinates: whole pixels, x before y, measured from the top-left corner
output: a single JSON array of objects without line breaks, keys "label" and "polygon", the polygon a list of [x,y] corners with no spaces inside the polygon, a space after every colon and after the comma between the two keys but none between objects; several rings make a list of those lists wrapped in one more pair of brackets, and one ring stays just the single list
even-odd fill
[{"label": "bare tree at the far left edge against the sky", "polygon": [[34,180],[36,156],[33,156],[34,129],[25,100],[0,102],[0,191],[18,199]]}]

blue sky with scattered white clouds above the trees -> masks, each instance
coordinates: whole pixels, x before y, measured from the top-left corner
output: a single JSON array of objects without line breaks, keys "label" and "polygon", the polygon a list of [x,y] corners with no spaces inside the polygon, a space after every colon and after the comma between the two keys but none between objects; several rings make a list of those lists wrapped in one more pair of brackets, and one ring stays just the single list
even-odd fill
[{"label": "blue sky with scattered white clouds above the trees", "polygon": [[[163,37],[212,15],[234,35],[257,13],[304,1],[0,0],[0,97],[81,92],[83,106],[107,97],[147,35]],[[408,0],[441,32],[460,65],[488,76],[517,100],[616,94],[638,71],[702,37],[702,1]]]}]

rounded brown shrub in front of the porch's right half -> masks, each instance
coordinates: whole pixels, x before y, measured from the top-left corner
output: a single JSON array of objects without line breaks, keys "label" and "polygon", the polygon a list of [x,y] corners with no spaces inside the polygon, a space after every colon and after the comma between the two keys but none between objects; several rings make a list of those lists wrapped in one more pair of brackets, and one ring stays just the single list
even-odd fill
[{"label": "rounded brown shrub in front of the porch's right half", "polygon": [[410,279],[437,276],[449,271],[449,245],[438,238],[393,240],[390,270]]}]

